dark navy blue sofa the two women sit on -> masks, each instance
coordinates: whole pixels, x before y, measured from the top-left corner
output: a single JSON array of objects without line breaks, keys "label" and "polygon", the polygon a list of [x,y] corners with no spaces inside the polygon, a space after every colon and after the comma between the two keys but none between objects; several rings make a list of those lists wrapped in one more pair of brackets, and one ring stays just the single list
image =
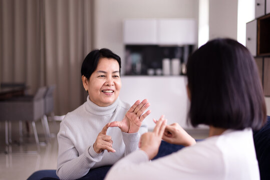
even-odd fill
[{"label": "dark navy blue sofa the two women sit on", "polygon": [[[270,179],[270,173],[268,172],[268,170],[270,169],[270,116],[267,116],[267,122],[260,130],[253,132],[253,139],[259,165],[260,179],[261,180]],[[158,154],[153,159],[157,159],[164,155],[168,155],[183,147],[184,146],[182,145],[170,144],[162,140]],[[111,165],[90,169],[89,172],[84,177],[80,178],[80,180],[104,179],[110,167]],[[59,179],[59,177],[56,175],[55,169],[39,170],[34,172],[27,180],[40,180],[40,179],[53,180]]]}]

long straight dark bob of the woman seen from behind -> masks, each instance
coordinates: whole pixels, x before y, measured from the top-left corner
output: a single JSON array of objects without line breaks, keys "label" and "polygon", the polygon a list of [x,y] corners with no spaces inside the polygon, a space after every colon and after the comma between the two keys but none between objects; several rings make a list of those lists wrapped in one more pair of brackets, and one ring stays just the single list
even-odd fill
[{"label": "long straight dark bob of the woman seen from behind", "polygon": [[187,62],[189,122],[259,129],[266,107],[257,66],[248,49],[229,38],[208,41]]}]

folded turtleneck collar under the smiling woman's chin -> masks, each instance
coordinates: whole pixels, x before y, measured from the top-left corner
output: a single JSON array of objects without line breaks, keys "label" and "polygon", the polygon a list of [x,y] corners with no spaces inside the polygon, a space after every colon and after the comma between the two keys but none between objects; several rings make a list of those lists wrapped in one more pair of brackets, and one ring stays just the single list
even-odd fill
[{"label": "folded turtleneck collar under the smiling woman's chin", "polygon": [[117,97],[117,99],[111,105],[106,106],[106,107],[101,107],[101,106],[95,104],[94,102],[92,102],[89,98],[89,95],[88,95],[87,100],[85,102],[85,109],[88,112],[95,114],[95,115],[109,115],[115,111],[115,109],[119,103],[120,103],[120,100],[119,100],[119,97]]}]

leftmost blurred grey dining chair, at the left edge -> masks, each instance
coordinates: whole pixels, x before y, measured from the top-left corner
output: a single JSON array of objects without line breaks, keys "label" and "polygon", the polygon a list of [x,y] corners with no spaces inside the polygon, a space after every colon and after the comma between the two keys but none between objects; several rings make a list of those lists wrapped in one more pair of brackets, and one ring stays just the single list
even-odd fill
[{"label": "leftmost blurred grey dining chair, at the left edge", "polygon": [[[22,142],[22,121],[30,121],[33,126],[37,150],[38,152],[40,151],[40,142],[35,122],[39,119],[43,119],[44,96],[46,91],[47,87],[40,87],[34,96],[24,95],[0,101],[1,121],[5,121],[6,145],[9,146],[12,142],[12,122],[19,122],[20,142]],[[11,152],[10,148],[8,152]]]}]

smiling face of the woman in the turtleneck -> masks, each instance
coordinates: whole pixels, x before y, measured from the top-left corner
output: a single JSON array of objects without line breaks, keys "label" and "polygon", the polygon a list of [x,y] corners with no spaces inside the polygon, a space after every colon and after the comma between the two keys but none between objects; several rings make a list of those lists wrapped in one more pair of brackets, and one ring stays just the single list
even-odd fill
[{"label": "smiling face of the woman in the turtleneck", "polygon": [[99,59],[96,70],[86,83],[92,102],[99,106],[114,103],[122,86],[117,60],[107,57]]}]

